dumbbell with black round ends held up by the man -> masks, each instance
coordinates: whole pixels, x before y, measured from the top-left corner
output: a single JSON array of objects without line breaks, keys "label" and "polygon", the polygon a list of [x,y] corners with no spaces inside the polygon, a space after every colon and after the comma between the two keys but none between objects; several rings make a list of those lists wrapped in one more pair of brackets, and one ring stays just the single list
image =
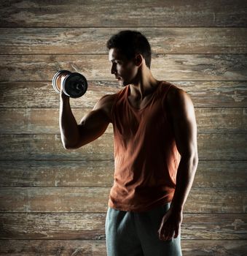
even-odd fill
[{"label": "dumbbell with black round ends held up by the man", "polygon": [[71,98],[79,98],[85,94],[87,91],[87,79],[85,76],[68,70],[60,70],[52,78],[52,87],[56,92],[60,93],[62,75],[66,76],[62,84],[64,94]]}]

